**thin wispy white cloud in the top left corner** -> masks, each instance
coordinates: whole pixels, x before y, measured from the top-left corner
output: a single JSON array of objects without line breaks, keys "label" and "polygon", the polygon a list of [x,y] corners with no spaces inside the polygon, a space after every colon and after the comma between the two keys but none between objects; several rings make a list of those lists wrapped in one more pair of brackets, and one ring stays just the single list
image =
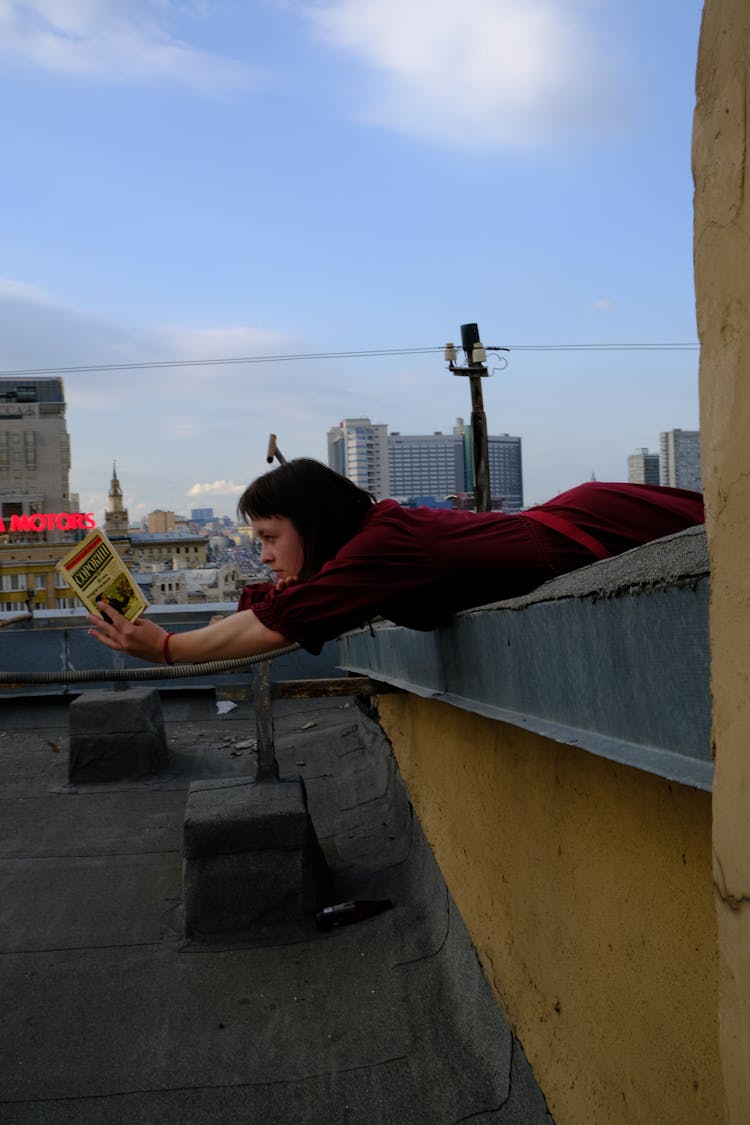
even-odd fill
[{"label": "thin wispy white cloud in the top left corner", "polygon": [[249,68],[171,34],[171,10],[170,0],[0,0],[0,56],[82,79],[198,89],[252,80]]}]

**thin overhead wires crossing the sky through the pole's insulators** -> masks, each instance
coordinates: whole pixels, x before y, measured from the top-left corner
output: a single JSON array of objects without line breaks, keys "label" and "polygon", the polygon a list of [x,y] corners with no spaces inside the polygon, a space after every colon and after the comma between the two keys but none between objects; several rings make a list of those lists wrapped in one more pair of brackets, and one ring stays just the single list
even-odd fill
[{"label": "thin overhead wires crossing the sky through the pole's insulators", "polygon": [[[378,356],[426,356],[442,352],[444,344],[431,348],[373,348],[342,352],[300,352],[281,356],[224,356],[214,359],[164,359],[137,363],[85,363],[71,367],[28,367],[0,371],[1,378],[24,378],[33,375],[79,375],[87,371],[145,371],[170,367],[226,367],[243,363],[290,363],[316,359],[364,359]],[[640,343],[640,344],[506,344],[508,351],[697,351],[695,343]],[[487,351],[491,352],[489,345]]]}]

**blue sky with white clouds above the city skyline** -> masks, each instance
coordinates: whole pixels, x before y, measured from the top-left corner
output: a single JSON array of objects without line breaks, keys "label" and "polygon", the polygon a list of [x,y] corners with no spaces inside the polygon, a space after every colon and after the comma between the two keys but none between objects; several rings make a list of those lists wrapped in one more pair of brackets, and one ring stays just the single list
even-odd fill
[{"label": "blue sky with white clouds above the city skyline", "polygon": [[[450,432],[467,322],[527,503],[697,429],[697,349],[593,345],[696,341],[701,9],[0,0],[0,370],[101,364],[63,374],[81,506],[116,461],[133,520],[234,514],[270,432]],[[279,356],[327,358],[210,362]]]}]

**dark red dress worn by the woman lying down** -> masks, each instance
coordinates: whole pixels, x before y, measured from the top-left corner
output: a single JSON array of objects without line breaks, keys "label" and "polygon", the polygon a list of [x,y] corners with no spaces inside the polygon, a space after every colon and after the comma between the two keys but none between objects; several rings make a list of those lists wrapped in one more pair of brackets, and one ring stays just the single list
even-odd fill
[{"label": "dark red dress worn by the woman lying down", "polygon": [[699,493],[589,482],[517,515],[373,504],[362,529],[313,578],[277,593],[246,586],[240,610],[319,652],[382,616],[434,629],[452,613],[528,593],[597,558],[703,523]]}]

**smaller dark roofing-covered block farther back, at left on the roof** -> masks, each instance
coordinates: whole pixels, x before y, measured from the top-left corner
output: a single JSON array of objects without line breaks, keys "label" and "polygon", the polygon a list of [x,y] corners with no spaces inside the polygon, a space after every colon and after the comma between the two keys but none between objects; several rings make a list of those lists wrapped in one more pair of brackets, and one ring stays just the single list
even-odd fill
[{"label": "smaller dark roofing-covered block farther back, at left on the roof", "polygon": [[159,773],[169,752],[159,692],[85,692],[69,709],[71,782],[109,782]]}]

